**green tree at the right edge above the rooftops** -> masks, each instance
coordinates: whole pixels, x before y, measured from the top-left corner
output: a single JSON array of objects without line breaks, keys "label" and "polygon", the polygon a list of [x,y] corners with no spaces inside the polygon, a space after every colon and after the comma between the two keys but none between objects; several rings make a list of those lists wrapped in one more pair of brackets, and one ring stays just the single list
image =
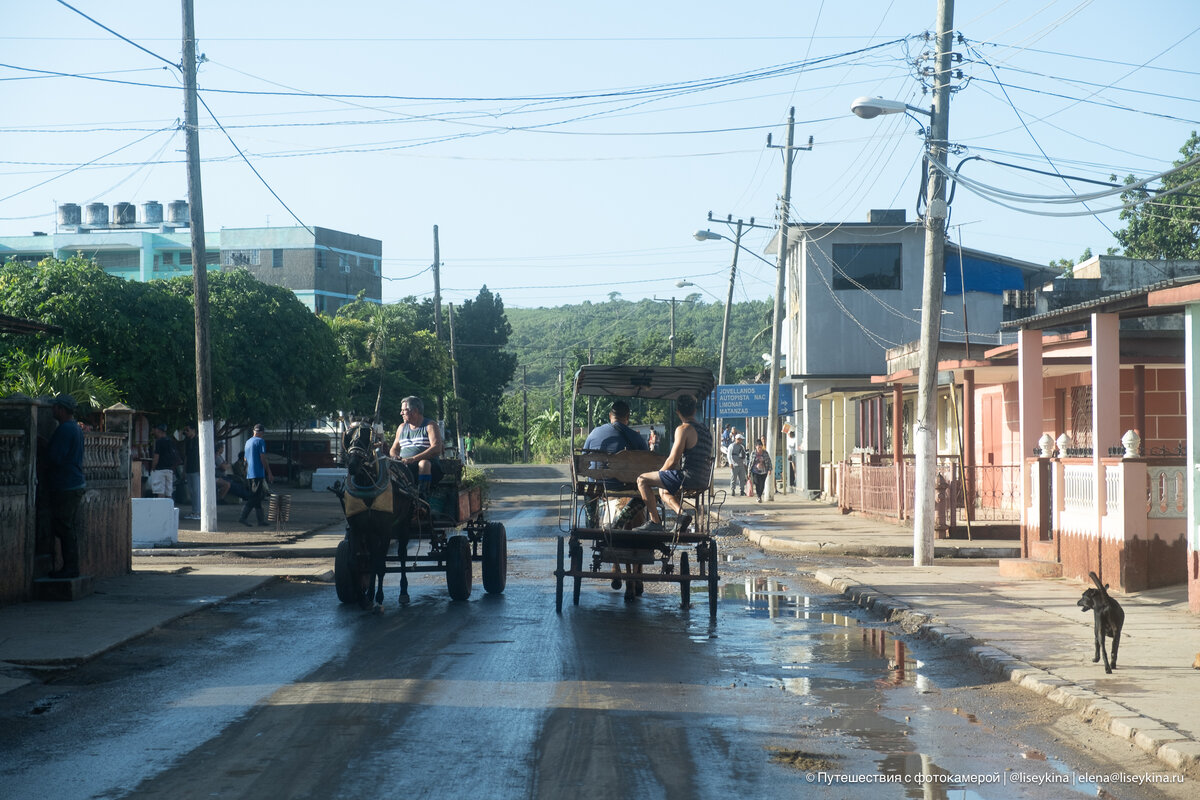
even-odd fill
[{"label": "green tree at the right edge above the rooftops", "polygon": [[[1163,179],[1160,191],[1128,190],[1121,194],[1124,203],[1138,203],[1121,212],[1127,222],[1116,231],[1124,255],[1148,259],[1200,259],[1200,186],[1189,186],[1172,194],[1163,192],[1200,180],[1200,137],[1192,136],[1180,148],[1183,158],[1174,162],[1183,167]],[[1129,175],[1124,182],[1133,184]]]}]

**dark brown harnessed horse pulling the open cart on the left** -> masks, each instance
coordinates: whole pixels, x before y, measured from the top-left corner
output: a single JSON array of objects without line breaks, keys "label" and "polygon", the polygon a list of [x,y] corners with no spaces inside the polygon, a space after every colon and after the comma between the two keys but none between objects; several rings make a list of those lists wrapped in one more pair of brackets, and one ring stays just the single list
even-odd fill
[{"label": "dark brown harnessed horse pulling the open cart on the left", "polygon": [[346,485],[338,497],[346,513],[347,540],[350,542],[359,576],[359,604],[365,609],[374,601],[383,609],[383,578],[388,547],[398,540],[400,602],[408,601],[408,575],[404,554],[408,530],[416,505],[416,487],[407,469],[389,469],[390,459],[379,456],[374,432],[367,422],[355,422],[342,437],[346,449]]}]

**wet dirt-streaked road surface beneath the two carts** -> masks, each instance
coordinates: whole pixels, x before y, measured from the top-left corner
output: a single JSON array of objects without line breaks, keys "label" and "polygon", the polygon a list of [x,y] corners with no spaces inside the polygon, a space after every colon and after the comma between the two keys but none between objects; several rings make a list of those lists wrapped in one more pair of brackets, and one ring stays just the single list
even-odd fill
[{"label": "wet dirt-streaked road surface beneath the two carts", "polygon": [[0,794],[1189,796],[1104,782],[1170,774],[732,539],[715,625],[702,583],[686,610],[584,582],[558,615],[545,481],[512,471],[493,500],[504,595],[478,567],[467,602],[419,575],[371,614],[280,583],[0,698]]}]

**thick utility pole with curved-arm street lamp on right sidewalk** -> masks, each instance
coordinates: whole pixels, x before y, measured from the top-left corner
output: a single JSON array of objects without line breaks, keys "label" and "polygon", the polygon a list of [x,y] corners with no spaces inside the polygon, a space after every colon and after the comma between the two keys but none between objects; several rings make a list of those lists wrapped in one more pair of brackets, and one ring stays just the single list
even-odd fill
[{"label": "thick utility pole with curved-arm street lamp on right sidewalk", "polygon": [[942,338],[942,283],[946,273],[946,149],[950,132],[950,47],[954,0],[937,2],[937,65],[929,126],[929,175],[925,197],[925,272],[920,290],[920,384],[917,391],[916,509],[912,525],[914,566],[934,563],[934,483],[937,475],[937,345]]}]

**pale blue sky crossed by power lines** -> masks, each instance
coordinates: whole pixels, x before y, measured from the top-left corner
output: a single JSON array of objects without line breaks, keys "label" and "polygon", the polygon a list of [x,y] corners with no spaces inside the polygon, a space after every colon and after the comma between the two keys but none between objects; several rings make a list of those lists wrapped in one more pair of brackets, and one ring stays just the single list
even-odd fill
[{"label": "pale blue sky crossed by power lines", "polygon": [[[179,4],[70,4],[140,47],[54,0],[2,4],[0,235],[53,230],[61,203],[186,198],[167,64]],[[815,143],[796,157],[793,219],[914,218],[917,124],[848,108],[860,95],[928,106],[914,64],[935,12],[935,0],[197,0],[202,96],[226,128],[202,107],[206,227],[299,218],[380,239],[385,301],[432,293],[434,224],[452,302],[485,283],[510,307],[683,296],[680,278],[724,297],[732,246],[692,233],[709,211],[774,224],[784,170],[764,145],[768,132],[784,140],[788,107],[797,142]],[[965,150],[952,166],[1146,176],[1200,130],[1200,4],[959,0],[955,28],[950,139]],[[1097,188],[978,160],[962,172],[1030,194]],[[966,247],[1036,263],[1103,252],[1123,225],[1116,212],[1022,213],[964,187],[950,224]],[[745,243],[761,252],[769,235]],[[737,299],[772,294],[768,264],[739,266]]]}]

